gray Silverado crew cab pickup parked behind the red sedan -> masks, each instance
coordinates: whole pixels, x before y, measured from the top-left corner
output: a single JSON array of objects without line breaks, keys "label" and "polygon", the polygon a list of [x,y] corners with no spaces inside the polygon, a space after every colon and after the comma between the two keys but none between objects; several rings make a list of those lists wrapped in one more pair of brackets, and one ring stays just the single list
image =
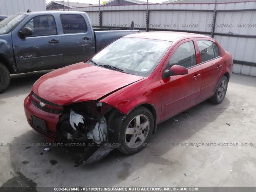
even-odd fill
[{"label": "gray Silverado crew cab pickup parked behind the red sedan", "polygon": [[14,14],[0,22],[0,92],[10,74],[61,68],[90,58],[114,40],[139,32],[92,29],[85,12]]}]

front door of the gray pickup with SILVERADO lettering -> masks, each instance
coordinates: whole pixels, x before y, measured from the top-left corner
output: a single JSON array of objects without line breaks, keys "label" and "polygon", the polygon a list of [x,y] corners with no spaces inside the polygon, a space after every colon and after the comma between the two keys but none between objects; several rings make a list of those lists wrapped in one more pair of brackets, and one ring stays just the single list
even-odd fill
[{"label": "front door of the gray pickup with SILVERADO lettering", "polygon": [[32,35],[22,38],[18,32],[12,34],[18,72],[62,67],[62,42],[54,16],[51,14],[35,16],[22,28],[25,27],[32,29]]}]

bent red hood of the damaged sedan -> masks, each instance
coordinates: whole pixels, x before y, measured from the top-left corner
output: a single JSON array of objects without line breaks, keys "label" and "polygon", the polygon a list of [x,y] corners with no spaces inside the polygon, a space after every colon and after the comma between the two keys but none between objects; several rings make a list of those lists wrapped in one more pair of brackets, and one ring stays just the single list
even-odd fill
[{"label": "bent red hood of the damaged sedan", "polygon": [[97,100],[143,78],[80,62],[45,74],[32,90],[49,102],[67,105]]}]

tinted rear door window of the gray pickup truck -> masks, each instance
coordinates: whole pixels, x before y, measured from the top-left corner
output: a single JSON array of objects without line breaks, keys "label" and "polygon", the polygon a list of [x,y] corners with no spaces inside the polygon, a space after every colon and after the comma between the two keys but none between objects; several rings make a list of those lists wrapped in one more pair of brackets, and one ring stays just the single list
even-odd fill
[{"label": "tinted rear door window of the gray pickup truck", "polygon": [[85,33],[87,25],[82,15],[60,15],[62,29],[64,34]]}]

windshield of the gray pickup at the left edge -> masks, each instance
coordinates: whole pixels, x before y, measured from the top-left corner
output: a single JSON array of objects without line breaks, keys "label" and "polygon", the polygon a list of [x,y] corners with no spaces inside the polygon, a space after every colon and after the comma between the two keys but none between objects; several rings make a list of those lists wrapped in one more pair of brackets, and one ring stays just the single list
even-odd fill
[{"label": "windshield of the gray pickup at the left edge", "polygon": [[2,20],[0,22],[0,35],[7,34],[8,32],[12,31],[26,16],[27,15],[24,14],[15,14]]}]

